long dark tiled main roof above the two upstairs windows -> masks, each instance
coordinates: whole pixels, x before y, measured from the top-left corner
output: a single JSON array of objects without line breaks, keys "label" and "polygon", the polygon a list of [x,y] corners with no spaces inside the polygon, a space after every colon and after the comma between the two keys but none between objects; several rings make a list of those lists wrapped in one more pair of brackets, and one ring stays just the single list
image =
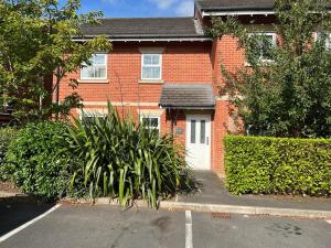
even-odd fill
[{"label": "long dark tiled main roof above the two upstairs windows", "polygon": [[109,37],[196,37],[204,36],[193,18],[119,18],[100,19],[100,25],[83,25],[84,35]]}]

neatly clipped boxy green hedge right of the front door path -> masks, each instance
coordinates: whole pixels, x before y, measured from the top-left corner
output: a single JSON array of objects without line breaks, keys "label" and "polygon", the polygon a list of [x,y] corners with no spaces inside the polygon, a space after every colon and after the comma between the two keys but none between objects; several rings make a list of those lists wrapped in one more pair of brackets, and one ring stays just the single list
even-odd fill
[{"label": "neatly clipped boxy green hedge right of the front door path", "polygon": [[331,139],[228,136],[225,152],[235,194],[331,194]]}]

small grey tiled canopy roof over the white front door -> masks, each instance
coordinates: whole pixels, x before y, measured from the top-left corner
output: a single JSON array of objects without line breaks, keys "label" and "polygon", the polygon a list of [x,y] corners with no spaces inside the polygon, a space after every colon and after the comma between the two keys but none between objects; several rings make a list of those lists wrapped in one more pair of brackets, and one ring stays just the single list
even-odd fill
[{"label": "small grey tiled canopy roof over the white front door", "polygon": [[160,106],[164,108],[213,109],[215,107],[215,98],[211,85],[164,85],[162,87]]}]

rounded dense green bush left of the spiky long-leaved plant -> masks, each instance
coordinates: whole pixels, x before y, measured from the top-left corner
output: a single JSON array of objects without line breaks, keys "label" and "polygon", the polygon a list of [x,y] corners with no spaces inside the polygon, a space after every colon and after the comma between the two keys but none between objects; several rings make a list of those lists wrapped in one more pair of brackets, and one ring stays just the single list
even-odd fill
[{"label": "rounded dense green bush left of the spiky long-leaved plant", "polygon": [[44,200],[65,195],[70,169],[76,161],[63,151],[67,126],[63,122],[39,122],[19,131],[18,138],[10,144],[4,169],[23,192]]}]

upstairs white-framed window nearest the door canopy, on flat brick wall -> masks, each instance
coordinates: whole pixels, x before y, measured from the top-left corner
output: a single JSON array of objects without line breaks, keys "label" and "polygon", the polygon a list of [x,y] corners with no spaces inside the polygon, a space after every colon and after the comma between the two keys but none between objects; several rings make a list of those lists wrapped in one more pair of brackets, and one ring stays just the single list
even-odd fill
[{"label": "upstairs white-framed window nearest the door canopy, on flat brick wall", "polygon": [[161,54],[142,54],[141,56],[141,79],[152,80],[161,79],[162,74],[162,55]]}]

